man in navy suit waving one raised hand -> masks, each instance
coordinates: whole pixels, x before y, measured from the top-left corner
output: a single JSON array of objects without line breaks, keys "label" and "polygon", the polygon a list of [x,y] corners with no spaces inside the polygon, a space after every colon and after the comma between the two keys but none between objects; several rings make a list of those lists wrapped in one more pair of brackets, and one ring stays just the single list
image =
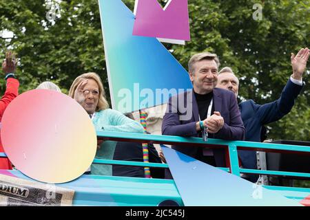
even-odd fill
[{"label": "man in navy suit waving one raised hand", "polygon": [[[310,50],[302,49],[295,56],[291,54],[291,65],[293,74],[287,81],[287,85],[282,91],[278,100],[267,104],[256,104],[253,100],[247,100],[239,104],[241,118],[245,124],[245,140],[251,142],[261,142],[261,136],[265,135],[265,124],[280,120],[284,115],[291,111],[295,99],[304,86],[302,74],[307,67]],[[222,89],[233,91],[235,97],[238,96],[239,80],[229,67],[224,67],[218,74],[218,85]],[[256,151],[238,151],[244,168],[256,168]],[[257,181],[258,175],[249,175],[250,181]]]}]

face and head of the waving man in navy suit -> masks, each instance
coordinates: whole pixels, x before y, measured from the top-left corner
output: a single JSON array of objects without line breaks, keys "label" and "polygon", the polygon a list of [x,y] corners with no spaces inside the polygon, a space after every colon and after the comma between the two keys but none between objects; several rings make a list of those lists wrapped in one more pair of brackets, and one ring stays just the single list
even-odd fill
[{"label": "face and head of the waving man in navy suit", "polygon": [[221,89],[228,89],[230,91],[233,91],[236,98],[238,96],[239,91],[239,82],[238,78],[229,72],[223,72],[218,75],[218,84],[216,87]]}]

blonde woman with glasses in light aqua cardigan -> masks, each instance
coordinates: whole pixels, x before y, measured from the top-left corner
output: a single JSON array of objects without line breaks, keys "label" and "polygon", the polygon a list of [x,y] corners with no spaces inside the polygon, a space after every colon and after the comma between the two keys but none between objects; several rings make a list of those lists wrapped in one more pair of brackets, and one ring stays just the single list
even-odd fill
[{"label": "blonde woman with glasses in light aqua cardigan", "polygon": [[[123,113],[112,110],[105,99],[105,91],[98,74],[87,73],[78,76],[72,83],[69,96],[79,102],[92,118],[96,131],[120,131],[143,133],[143,126],[127,118]],[[99,144],[97,159],[112,159],[116,142]],[[112,175],[111,165],[92,164],[93,175]],[[90,173],[90,172],[88,172]]]}]

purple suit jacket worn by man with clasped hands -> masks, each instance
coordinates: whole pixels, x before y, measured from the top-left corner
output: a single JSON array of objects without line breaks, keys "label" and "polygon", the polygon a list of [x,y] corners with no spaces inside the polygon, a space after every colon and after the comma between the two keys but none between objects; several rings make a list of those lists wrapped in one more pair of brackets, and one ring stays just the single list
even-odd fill
[{"label": "purple suit jacket worn by man with clasped hands", "polygon": [[[245,127],[240,117],[234,93],[225,89],[214,88],[213,94],[214,111],[219,111],[225,122],[223,128],[214,137],[223,140],[244,140]],[[188,99],[191,100],[187,103]],[[198,104],[194,92],[187,91],[169,99],[167,111],[163,118],[162,133],[163,135],[198,137],[199,133],[196,131],[196,122],[198,121]],[[172,148],[190,157],[197,157],[198,147],[196,146],[172,146]],[[216,166],[225,166],[224,155],[223,149],[214,150]]]}]

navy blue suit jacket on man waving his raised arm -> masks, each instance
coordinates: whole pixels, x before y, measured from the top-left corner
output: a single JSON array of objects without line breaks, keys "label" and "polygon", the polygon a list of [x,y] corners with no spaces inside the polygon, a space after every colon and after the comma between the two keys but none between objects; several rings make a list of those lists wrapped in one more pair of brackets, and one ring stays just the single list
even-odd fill
[{"label": "navy blue suit jacket on man waving his raised arm", "polygon": [[[256,104],[253,100],[241,102],[239,109],[242,121],[245,124],[245,130],[247,131],[245,140],[249,142],[260,142],[262,126],[280,120],[284,115],[289,113],[302,87],[289,80],[280,98],[276,101],[267,104]],[[238,155],[244,168],[256,168],[255,151],[238,151]],[[256,179],[251,179],[251,181],[256,181]]]}]

